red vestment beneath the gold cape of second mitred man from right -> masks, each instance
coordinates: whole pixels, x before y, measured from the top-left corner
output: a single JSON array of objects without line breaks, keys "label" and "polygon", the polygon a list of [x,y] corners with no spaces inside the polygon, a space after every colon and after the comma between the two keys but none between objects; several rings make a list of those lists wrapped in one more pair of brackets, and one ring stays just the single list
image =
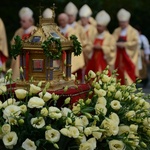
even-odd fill
[{"label": "red vestment beneath the gold cape of second mitred man from right", "polygon": [[[95,39],[94,45],[100,44],[103,45],[103,39]],[[85,74],[88,74],[90,70],[93,70],[94,72],[97,71],[103,71],[107,66],[107,62],[105,59],[105,55],[102,51],[102,49],[94,49],[94,53],[92,58],[89,60]]]}]

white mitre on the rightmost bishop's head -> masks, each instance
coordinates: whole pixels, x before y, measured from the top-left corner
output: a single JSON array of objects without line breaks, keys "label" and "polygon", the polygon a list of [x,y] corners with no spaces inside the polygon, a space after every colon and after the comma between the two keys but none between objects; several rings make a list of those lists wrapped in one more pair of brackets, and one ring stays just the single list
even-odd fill
[{"label": "white mitre on the rightmost bishop's head", "polygon": [[125,9],[120,9],[117,13],[117,18],[119,21],[129,21],[131,17],[130,12]]}]

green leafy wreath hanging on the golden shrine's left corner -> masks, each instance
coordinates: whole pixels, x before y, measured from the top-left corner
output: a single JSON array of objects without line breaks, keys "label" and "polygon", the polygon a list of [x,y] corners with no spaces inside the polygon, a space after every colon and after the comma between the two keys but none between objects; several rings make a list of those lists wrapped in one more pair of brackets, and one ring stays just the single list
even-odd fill
[{"label": "green leafy wreath hanging on the golden shrine's left corner", "polygon": [[12,45],[12,50],[11,50],[11,56],[16,59],[16,57],[21,53],[21,49],[22,49],[22,40],[20,38],[20,36],[16,36],[14,38],[15,40],[15,44]]}]

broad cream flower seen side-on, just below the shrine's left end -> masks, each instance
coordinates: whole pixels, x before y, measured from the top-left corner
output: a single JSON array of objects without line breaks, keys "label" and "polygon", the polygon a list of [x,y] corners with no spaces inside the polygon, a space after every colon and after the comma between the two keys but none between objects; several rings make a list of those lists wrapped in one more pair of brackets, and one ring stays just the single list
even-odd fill
[{"label": "broad cream flower seen side-on, just below the shrine's left end", "polygon": [[28,101],[28,107],[29,108],[42,108],[44,106],[45,102],[43,99],[39,97],[32,97]]}]

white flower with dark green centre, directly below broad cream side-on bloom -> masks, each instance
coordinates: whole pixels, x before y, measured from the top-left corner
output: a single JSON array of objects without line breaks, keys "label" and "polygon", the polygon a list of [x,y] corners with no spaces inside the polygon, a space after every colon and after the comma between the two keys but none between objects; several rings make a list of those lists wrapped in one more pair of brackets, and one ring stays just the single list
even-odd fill
[{"label": "white flower with dark green centre, directly below broad cream side-on bloom", "polygon": [[31,125],[37,129],[45,126],[45,120],[43,117],[35,117],[31,119]]}]

